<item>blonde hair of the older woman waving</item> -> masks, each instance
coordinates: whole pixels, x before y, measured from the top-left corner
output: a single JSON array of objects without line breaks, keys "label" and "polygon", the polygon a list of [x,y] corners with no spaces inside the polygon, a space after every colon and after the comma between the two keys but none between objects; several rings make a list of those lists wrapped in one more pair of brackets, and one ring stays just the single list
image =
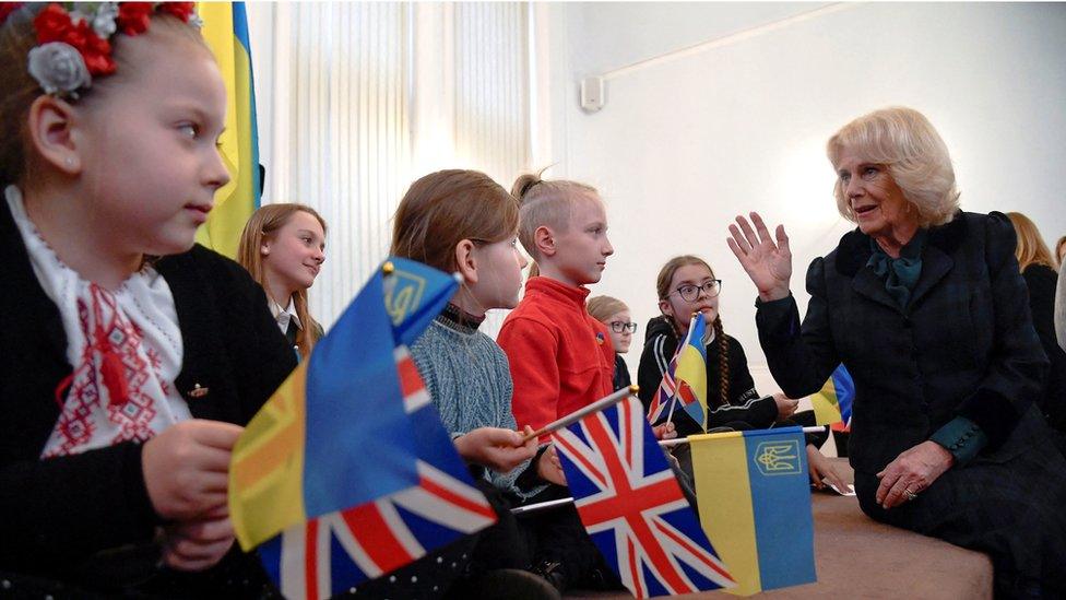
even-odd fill
[{"label": "blonde hair of the older woman waving", "polygon": [[[888,174],[917,211],[919,226],[950,223],[959,209],[955,169],[948,148],[924,115],[902,106],[875,110],[840,128],[829,138],[826,153],[833,168],[844,149],[869,163],[885,165]],[[855,222],[855,213],[838,177],[833,186],[837,210]]]}]

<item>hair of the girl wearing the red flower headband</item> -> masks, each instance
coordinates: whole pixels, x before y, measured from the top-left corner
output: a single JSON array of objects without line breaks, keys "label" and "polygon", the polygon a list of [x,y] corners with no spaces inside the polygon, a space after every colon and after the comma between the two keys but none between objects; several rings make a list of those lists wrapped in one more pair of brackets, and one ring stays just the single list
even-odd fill
[{"label": "hair of the girl wearing the red flower headband", "polygon": [[[0,134],[0,187],[9,184],[25,185],[26,178],[36,177],[40,167],[39,161],[29,152],[31,139],[28,130],[29,106],[44,95],[40,84],[29,75],[26,69],[29,50],[37,46],[37,34],[34,31],[34,17],[48,7],[48,2],[26,2],[13,10],[7,20],[0,24],[0,123],[4,131]],[[182,22],[180,19],[161,12],[151,14],[151,25],[142,34],[153,35],[165,32],[179,38],[194,40],[208,50],[200,30]],[[115,60],[116,71],[107,77],[94,77],[93,86],[79,90],[79,97],[64,98],[72,105],[88,106],[104,101],[107,93],[120,84],[138,69],[149,66],[133,64],[129,60],[127,44],[128,36],[116,33],[108,43],[111,45],[111,58]],[[208,50],[210,54],[210,50]],[[135,93],[135,91],[133,91]]]}]

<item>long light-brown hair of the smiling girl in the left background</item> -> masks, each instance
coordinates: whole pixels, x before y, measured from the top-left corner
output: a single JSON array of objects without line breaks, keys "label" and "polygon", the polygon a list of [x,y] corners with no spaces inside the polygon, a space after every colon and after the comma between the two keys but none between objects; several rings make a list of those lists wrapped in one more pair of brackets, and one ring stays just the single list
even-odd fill
[{"label": "long light-brown hair of the smiling girl in the left background", "polygon": [[[245,231],[240,234],[240,244],[237,246],[237,262],[251,273],[252,279],[266,287],[266,272],[263,269],[263,255],[261,248],[263,240],[270,239],[274,232],[285,226],[297,212],[306,212],[318,220],[322,225],[322,233],[325,233],[325,220],[306,204],[280,203],[266,204],[260,208],[245,224]],[[277,302],[276,299],[274,302]],[[296,334],[296,348],[299,349],[300,356],[308,357],[318,341],[318,330],[322,327],[316,321],[307,308],[307,290],[297,290],[293,294],[293,306],[296,308],[296,317],[299,318],[299,332]]]}]

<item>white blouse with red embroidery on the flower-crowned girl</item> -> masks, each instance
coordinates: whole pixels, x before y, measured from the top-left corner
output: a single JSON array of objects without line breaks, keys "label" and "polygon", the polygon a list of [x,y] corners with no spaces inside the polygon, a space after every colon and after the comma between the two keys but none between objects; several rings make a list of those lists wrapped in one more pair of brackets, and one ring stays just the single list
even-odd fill
[{"label": "white blouse with red embroidery on the flower-crowned girl", "polygon": [[9,186],[4,198],[37,281],[59,307],[74,369],[56,389],[62,409],[42,458],[144,442],[191,419],[174,385],[182,342],[166,280],[150,266],[115,291],[82,279],[40,236],[19,188]]}]

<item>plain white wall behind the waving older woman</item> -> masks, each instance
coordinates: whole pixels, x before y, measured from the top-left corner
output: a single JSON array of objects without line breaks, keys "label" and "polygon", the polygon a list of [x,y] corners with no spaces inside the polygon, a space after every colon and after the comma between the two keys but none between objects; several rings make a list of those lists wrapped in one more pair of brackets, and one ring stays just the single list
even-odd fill
[{"label": "plain white wall behind the waving older woman", "polygon": [[[803,311],[807,264],[852,227],[836,212],[825,141],[876,108],[933,121],[964,210],[1024,212],[1051,244],[1066,233],[1063,4],[575,3],[552,15],[567,45],[550,58],[555,175],[603,192],[616,255],[593,294],[626,301],[641,323],[633,372],[659,268],[695,252],[724,280],[726,331],[762,391],[775,389],[726,225],[750,210],[785,223]],[[689,49],[648,60],[678,48]],[[583,113],[577,81],[605,72],[606,106]]]}]

